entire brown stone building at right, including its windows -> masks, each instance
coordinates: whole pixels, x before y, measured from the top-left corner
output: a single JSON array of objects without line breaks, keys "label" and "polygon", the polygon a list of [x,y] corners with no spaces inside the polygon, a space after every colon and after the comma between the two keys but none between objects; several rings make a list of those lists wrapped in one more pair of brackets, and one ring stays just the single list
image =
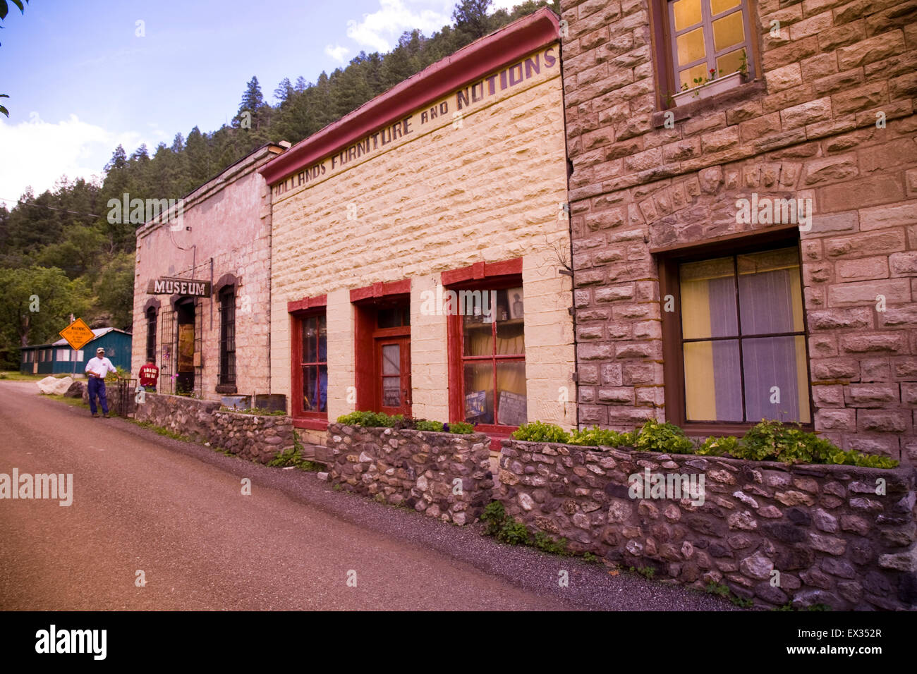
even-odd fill
[{"label": "entire brown stone building at right, including its windows", "polygon": [[561,8],[580,425],[917,460],[917,5]]}]

